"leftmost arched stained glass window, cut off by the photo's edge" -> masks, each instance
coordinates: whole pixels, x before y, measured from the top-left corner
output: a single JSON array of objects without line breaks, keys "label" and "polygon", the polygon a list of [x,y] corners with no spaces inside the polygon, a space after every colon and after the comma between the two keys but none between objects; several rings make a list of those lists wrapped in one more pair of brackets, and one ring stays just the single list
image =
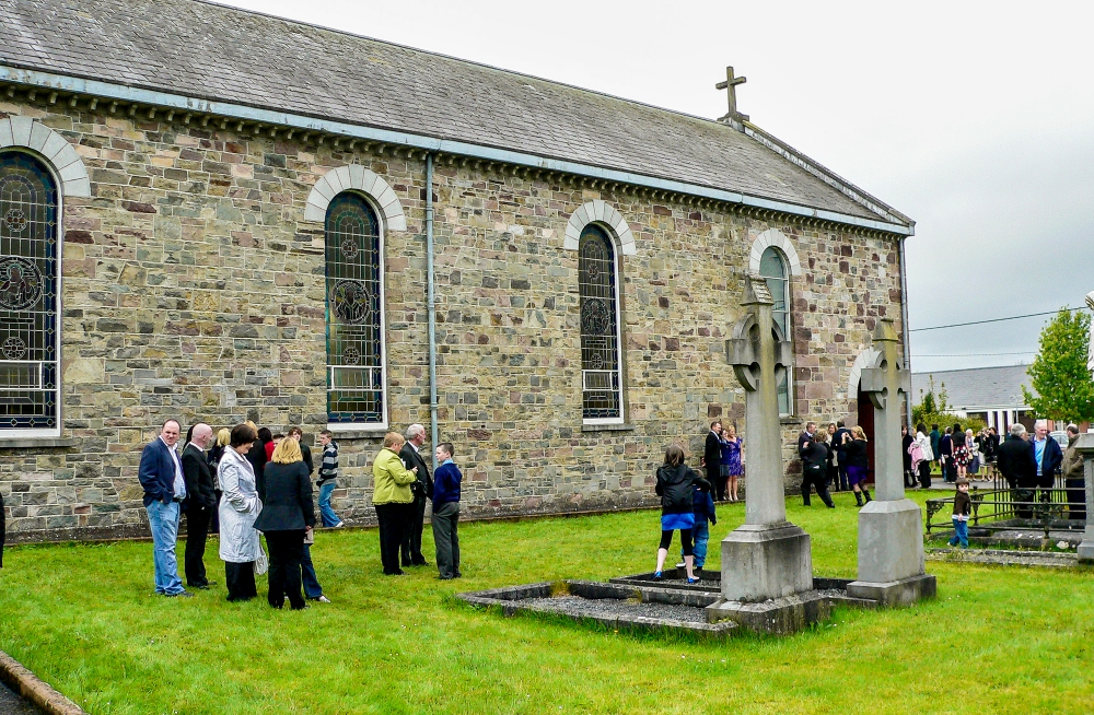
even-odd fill
[{"label": "leftmost arched stained glass window, cut off by the photo's edge", "polygon": [[0,431],[59,426],[57,300],[57,188],[0,153]]}]

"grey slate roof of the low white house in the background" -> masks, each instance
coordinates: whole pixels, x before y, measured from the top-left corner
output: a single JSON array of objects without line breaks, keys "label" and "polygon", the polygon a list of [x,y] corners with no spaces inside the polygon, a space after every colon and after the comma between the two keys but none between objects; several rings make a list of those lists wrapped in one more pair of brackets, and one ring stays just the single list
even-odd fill
[{"label": "grey slate roof of the low white house in the background", "polygon": [[1028,365],[912,373],[912,401],[919,403],[922,394],[930,389],[930,379],[933,377],[935,395],[944,384],[946,402],[958,410],[986,407],[1028,407],[1022,397],[1022,385],[1025,385],[1026,389],[1034,395],[1037,395],[1037,390],[1033,389],[1029,384],[1026,367]]}]

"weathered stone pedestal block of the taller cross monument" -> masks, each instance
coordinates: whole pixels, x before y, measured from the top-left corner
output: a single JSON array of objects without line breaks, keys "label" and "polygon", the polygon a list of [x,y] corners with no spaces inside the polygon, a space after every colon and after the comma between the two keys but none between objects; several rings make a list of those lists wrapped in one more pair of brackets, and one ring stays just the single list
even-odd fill
[{"label": "weathered stone pedestal block of the taller cross monument", "polygon": [[790,521],[745,524],[722,539],[722,598],[745,603],[813,590],[810,535]]}]

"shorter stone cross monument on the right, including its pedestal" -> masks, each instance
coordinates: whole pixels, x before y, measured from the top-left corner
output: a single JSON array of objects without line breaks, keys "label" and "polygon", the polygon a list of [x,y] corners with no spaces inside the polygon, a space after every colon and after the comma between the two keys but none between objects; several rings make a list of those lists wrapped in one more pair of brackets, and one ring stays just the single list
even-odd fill
[{"label": "shorter stone cross monument on the right, including its pedestal", "polygon": [[878,352],[859,385],[874,406],[875,499],[859,512],[859,578],[847,593],[899,606],[933,596],[935,583],[923,569],[922,512],[904,494],[900,398],[911,394],[911,376],[893,320],[878,320],[873,339]]}]

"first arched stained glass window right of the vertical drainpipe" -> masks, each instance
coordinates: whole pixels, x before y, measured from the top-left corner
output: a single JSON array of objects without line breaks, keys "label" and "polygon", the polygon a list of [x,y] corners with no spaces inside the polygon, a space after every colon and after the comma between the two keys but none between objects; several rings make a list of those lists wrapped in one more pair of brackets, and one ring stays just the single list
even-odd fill
[{"label": "first arched stained glass window right of the vertical drainpipe", "polygon": [[595,224],[585,226],[578,245],[581,310],[582,418],[622,420],[619,370],[619,296],[612,239]]}]

